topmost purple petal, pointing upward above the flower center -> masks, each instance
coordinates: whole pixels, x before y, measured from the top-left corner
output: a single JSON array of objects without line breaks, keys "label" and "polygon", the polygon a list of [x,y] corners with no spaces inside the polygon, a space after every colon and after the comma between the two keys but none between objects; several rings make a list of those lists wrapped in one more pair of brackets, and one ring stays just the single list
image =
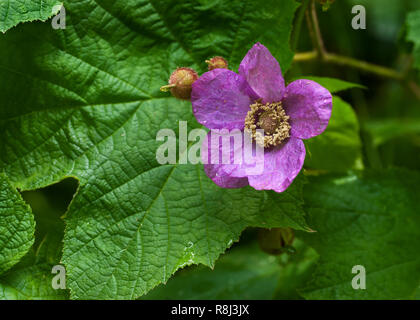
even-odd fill
[{"label": "topmost purple petal, pointing upward above the flower center", "polygon": [[256,43],[245,55],[239,74],[263,99],[263,103],[282,99],[285,87],[280,65],[261,43]]}]

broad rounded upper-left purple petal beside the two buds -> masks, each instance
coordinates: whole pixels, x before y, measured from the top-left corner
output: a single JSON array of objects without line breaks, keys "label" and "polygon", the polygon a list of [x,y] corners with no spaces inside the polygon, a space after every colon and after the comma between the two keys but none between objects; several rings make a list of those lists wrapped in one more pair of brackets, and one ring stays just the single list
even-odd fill
[{"label": "broad rounded upper-left purple petal beside the two buds", "polygon": [[242,129],[249,106],[256,99],[246,80],[227,69],[206,72],[192,85],[194,115],[209,129]]}]

